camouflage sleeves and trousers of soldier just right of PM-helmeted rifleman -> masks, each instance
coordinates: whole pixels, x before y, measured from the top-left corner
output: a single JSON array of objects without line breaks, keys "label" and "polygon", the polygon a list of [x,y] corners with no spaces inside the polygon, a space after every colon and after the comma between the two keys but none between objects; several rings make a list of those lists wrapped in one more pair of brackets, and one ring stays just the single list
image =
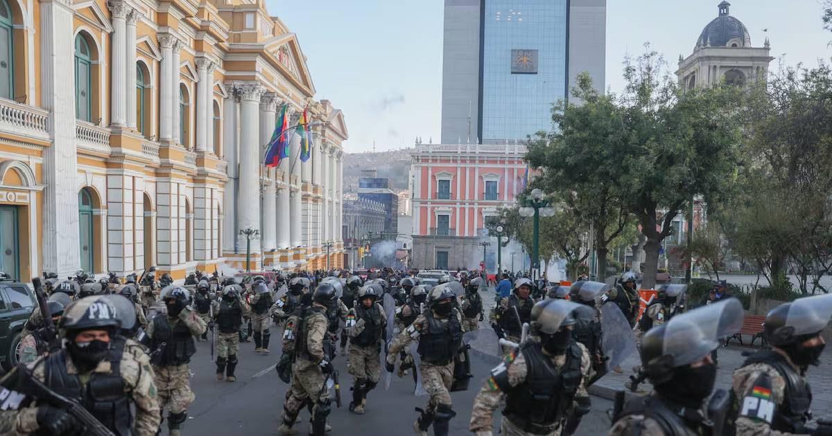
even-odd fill
[{"label": "camouflage sleeves and trousers of soldier just right of PM-helmeted rifleman", "polygon": [[[196,311],[186,307],[179,316],[175,319],[169,318],[166,314],[159,314],[157,316],[164,316],[171,331],[181,322],[191,331],[191,335],[199,336],[206,331],[206,323],[202,321],[199,316],[196,316]],[[155,323],[151,322],[147,325],[146,335],[153,337]],[[155,350],[151,350],[153,352]],[[188,409],[188,406],[194,402],[196,398],[191,391],[191,370],[188,369],[188,364],[183,365],[153,365],[154,380],[156,380],[156,389],[159,391],[159,408],[168,408],[171,414],[181,414]]]}]

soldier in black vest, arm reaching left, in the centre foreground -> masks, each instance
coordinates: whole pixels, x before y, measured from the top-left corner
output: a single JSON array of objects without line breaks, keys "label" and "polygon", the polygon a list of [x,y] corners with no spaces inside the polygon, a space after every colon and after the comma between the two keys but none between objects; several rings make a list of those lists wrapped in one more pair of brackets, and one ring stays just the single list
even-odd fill
[{"label": "soldier in black vest, arm reaching left, in the centre foreground", "polygon": [[387,354],[387,370],[393,372],[395,356],[414,340],[418,340],[421,356],[419,372],[424,390],[430,395],[428,407],[417,409],[421,414],[414,422],[414,430],[427,435],[433,424],[433,434],[447,436],[450,420],[456,415],[451,409],[449,389],[453,384],[454,358],[462,346],[462,315],[453,307],[456,296],[447,284],[433,287],[428,294],[430,310],[424,311],[407,329],[393,340]]}]

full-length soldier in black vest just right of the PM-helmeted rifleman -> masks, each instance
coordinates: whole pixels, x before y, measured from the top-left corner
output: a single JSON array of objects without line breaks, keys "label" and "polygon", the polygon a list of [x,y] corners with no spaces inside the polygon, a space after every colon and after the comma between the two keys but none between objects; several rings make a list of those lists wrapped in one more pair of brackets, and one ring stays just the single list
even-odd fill
[{"label": "full-length soldier in black vest just right of the PM-helmeted rifleman", "polygon": [[165,302],[167,313],[153,318],[143,340],[151,350],[160,412],[167,406],[167,428],[171,436],[179,436],[181,424],[188,417],[188,406],[194,402],[188,363],[196,352],[194,336],[206,331],[206,322],[188,306],[189,297],[185,287],[162,289],[161,299]]}]

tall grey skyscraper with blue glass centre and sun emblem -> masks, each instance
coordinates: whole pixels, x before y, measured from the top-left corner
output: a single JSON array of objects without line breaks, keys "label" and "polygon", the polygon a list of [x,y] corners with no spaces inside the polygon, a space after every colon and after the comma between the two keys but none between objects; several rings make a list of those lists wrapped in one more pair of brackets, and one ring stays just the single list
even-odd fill
[{"label": "tall grey skyscraper with blue glass centre and sun emblem", "polygon": [[605,88],[606,0],[445,0],[442,143],[551,130],[582,71]]}]

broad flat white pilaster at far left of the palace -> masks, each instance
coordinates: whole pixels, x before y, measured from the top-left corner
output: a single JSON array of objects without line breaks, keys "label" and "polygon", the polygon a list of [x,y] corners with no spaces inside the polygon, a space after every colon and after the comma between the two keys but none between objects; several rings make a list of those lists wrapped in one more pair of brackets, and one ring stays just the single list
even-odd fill
[{"label": "broad flat white pilaster at far left of the palace", "polygon": [[[78,241],[77,150],[75,147],[75,83],[72,2],[40,3],[41,103],[51,113],[48,130],[52,145],[43,149],[42,268],[31,273],[57,272],[67,277],[77,271]],[[34,77],[32,77],[34,79]],[[37,241],[37,228],[30,235]],[[23,272],[25,273],[25,272]]]}]

